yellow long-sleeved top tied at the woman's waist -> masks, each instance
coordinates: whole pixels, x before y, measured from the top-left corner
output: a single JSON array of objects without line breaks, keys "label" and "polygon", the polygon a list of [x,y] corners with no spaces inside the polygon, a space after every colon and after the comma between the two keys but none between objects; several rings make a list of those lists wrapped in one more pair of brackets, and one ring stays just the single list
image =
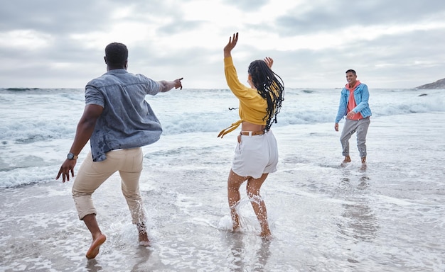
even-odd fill
[{"label": "yellow long-sleeved top tied at the woman's waist", "polygon": [[232,132],[238,128],[243,121],[256,125],[266,125],[267,120],[264,119],[264,116],[267,115],[267,101],[258,94],[256,89],[240,83],[232,57],[224,58],[224,72],[227,86],[229,86],[232,93],[235,94],[240,101],[239,114],[241,119],[221,131],[218,137],[223,137],[227,133]]}]

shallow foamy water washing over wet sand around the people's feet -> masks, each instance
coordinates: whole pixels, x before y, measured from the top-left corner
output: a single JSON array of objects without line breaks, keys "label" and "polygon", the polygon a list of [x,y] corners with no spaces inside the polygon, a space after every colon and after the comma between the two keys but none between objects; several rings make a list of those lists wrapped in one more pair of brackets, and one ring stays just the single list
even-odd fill
[{"label": "shallow foamy water washing over wet sand around the people's feet", "polygon": [[[144,147],[141,191],[150,248],[136,243],[117,176],[94,196],[107,242],[92,261],[84,256],[90,237],[77,220],[71,183],[6,188],[0,200],[2,269],[444,271],[444,168],[437,156],[444,154],[439,139],[445,128],[423,122],[443,118],[443,113],[425,113],[411,116],[409,123],[405,116],[373,120],[366,171],[359,170],[353,146],[353,162],[338,167],[339,143],[332,140],[338,132],[328,130],[332,124],[274,130],[279,171],[262,189],[274,235],[270,242],[258,237],[245,196],[242,232],[229,230],[225,181],[233,136],[205,141],[214,135],[171,135],[155,148]],[[395,123],[397,129],[388,130]],[[159,156],[162,164],[151,159]]]}]

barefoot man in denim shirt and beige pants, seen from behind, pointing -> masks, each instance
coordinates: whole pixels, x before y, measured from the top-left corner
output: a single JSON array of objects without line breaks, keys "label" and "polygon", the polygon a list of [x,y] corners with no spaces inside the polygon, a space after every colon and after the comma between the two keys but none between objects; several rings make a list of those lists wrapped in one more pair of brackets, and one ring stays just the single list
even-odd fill
[{"label": "barefoot man in denim shirt and beige pants, seen from behind, pointing", "polygon": [[80,220],[92,234],[87,259],[99,254],[107,239],[96,220],[92,193],[116,171],[122,179],[124,194],[132,223],[139,232],[139,244],[149,246],[146,216],[139,193],[139,176],[142,171],[141,147],[150,145],[162,133],[161,124],[145,100],[147,94],[181,88],[181,79],[154,81],[142,74],[127,72],[127,47],[112,42],[105,47],[107,73],[92,79],[85,88],[85,110],[79,123],[73,145],[63,162],[58,176],[63,182],[74,176],[77,155],[90,140],[91,151],[80,166],[73,183],[73,199]]}]

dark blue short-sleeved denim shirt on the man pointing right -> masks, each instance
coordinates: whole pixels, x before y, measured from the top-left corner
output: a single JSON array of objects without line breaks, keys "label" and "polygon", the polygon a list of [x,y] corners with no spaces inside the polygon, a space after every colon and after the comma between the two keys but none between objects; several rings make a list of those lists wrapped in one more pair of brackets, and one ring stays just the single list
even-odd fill
[{"label": "dark blue short-sleeved denim shirt on the man pointing right", "polygon": [[102,162],[114,149],[150,145],[161,137],[158,118],[145,100],[156,95],[159,82],[126,69],[114,69],[85,87],[85,104],[104,108],[90,138],[92,160]]}]

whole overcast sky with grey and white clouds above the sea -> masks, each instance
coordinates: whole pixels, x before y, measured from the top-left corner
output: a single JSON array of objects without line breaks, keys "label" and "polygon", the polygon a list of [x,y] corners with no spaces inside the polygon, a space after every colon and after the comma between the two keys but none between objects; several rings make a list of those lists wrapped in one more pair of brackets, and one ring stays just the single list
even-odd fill
[{"label": "whole overcast sky with grey and white clouds above the sea", "polygon": [[247,84],[272,57],[287,88],[337,88],[355,69],[369,88],[445,77],[443,0],[1,1],[0,88],[84,88],[106,72],[104,47],[129,48],[129,72],[227,89],[223,47]]}]

